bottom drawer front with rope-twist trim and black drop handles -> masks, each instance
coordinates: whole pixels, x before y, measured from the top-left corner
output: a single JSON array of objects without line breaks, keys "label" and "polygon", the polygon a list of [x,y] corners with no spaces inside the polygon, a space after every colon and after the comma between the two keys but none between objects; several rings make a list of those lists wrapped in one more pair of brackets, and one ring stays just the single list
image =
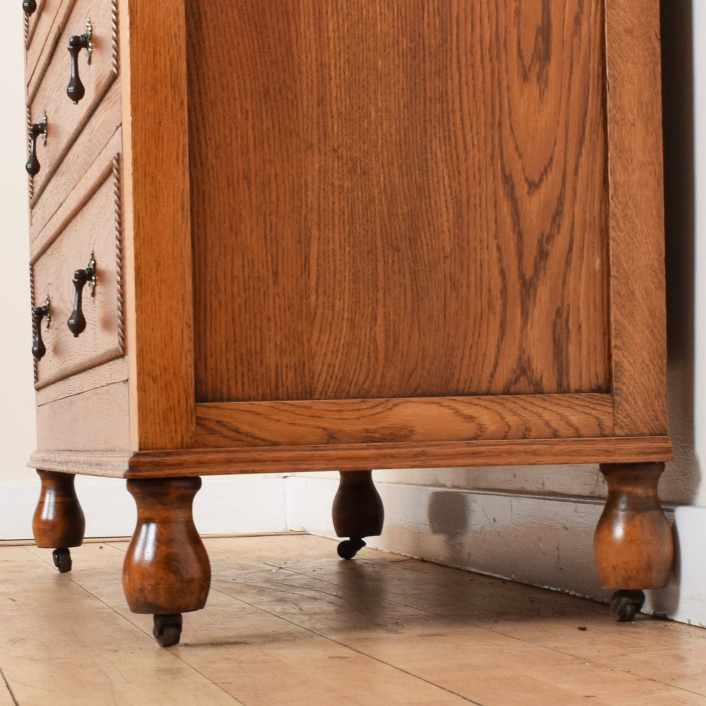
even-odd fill
[{"label": "bottom drawer front with rope-twist trim and black drop handles", "polygon": [[[100,175],[32,264],[32,301],[49,297],[52,321],[42,338],[47,352],[37,363],[37,390],[124,355],[122,234],[119,160]],[[75,214],[75,215],[74,215]],[[74,309],[73,274],[94,253],[95,293],[83,288],[83,333],[74,337],[67,321]]]}]

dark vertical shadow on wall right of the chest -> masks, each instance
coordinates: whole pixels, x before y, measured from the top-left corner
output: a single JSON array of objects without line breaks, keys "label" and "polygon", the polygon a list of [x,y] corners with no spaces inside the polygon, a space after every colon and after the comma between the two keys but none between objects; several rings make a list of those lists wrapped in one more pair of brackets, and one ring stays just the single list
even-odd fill
[{"label": "dark vertical shadow on wall right of the chest", "polygon": [[669,433],[676,460],[660,484],[666,502],[693,503],[701,482],[694,453],[694,96],[692,0],[662,2],[662,109]]}]

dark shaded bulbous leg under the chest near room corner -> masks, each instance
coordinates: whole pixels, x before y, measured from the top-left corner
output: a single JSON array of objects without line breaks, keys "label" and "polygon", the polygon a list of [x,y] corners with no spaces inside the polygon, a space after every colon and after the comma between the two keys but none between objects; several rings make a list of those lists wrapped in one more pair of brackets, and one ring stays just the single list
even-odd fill
[{"label": "dark shaded bulbous leg under the chest near room corner", "polygon": [[365,546],[364,537],[382,534],[385,510],[372,471],[346,471],[340,476],[333,498],[333,527],[337,537],[350,538],[338,545],[338,556],[352,559]]}]

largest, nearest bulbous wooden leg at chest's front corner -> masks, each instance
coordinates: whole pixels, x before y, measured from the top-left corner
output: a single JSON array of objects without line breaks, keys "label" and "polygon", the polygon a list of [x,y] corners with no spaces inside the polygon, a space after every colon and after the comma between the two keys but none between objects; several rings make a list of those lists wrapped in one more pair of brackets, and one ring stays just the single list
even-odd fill
[{"label": "largest, nearest bulbous wooden leg at chest's front corner", "polygon": [[128,480],[137,504],[137,527],[123,566],[123,588],[133,613],[155,616],[162,647],[179,642],[181,613],[206,604],[211,568],[193,524],[200,478]]}]

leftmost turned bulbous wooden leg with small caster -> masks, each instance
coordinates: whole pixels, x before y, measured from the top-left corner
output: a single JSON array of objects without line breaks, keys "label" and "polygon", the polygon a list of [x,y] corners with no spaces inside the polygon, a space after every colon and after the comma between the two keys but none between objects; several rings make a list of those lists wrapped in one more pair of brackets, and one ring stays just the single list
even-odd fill
[{"label": "leftmost turned bulbous wooden leg with small caster", "polygon": [[32,519],[35,543],[54,549],[54,566],[60,573],[71,571],[71,546],[83,543],[85,518],[74,487],[75,476],[37,470],[42,491]]}]

